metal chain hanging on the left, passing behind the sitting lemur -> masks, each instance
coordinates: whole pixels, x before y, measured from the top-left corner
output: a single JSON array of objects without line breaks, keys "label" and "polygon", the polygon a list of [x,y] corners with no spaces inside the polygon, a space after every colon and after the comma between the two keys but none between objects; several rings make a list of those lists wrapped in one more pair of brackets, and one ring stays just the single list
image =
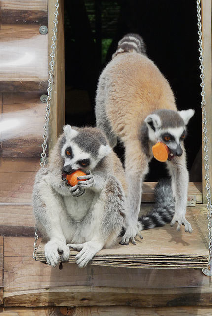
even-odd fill
[{"label": "metal chain hanging on the left, passing behind the sitting lemur", "polygon": [[[53,21],[54,23],[54,27],[53,27],[53,37],[52,37],[52,45],[51,45],[51,49],[52,52],[50,54],[51,57],[51,62],[49,63],[50,65],[50,71],[49,71],[49,79],[48,79],[48,98],[46,100],[47,105],[46,105],[46,116],[45,116],[45,125],[44,125],[44,134],[43,134],[43,144],[42,144],[42,149],[43,152],[41,153],[41,162],[40,165],[43,168],[47,162],[47,158],[46,158],[46,149],[47,149],[47,140],[48,140],[48,130],[49,130],[49,115],[50,115],[50,106],[51,106],[51,92],[52,92],[52,83],[53,83],[53,75],[54,75],[54,58],[55,58],[55,49],[56,49],[56,33],[57,33],[57,24],[58,24],[58,8],[59,8],[59,0],[56,1],[55,3],[55,7],[56,10],[54,12],[55,15],[55,19]],[[34,245],[33,245],[33,259],[36,259],[36,250],[38,248],[37,246],[37,240],[38,240],[38,235],[37,235],[37,229],[35,230],[35,241],[34,241]]]}]

